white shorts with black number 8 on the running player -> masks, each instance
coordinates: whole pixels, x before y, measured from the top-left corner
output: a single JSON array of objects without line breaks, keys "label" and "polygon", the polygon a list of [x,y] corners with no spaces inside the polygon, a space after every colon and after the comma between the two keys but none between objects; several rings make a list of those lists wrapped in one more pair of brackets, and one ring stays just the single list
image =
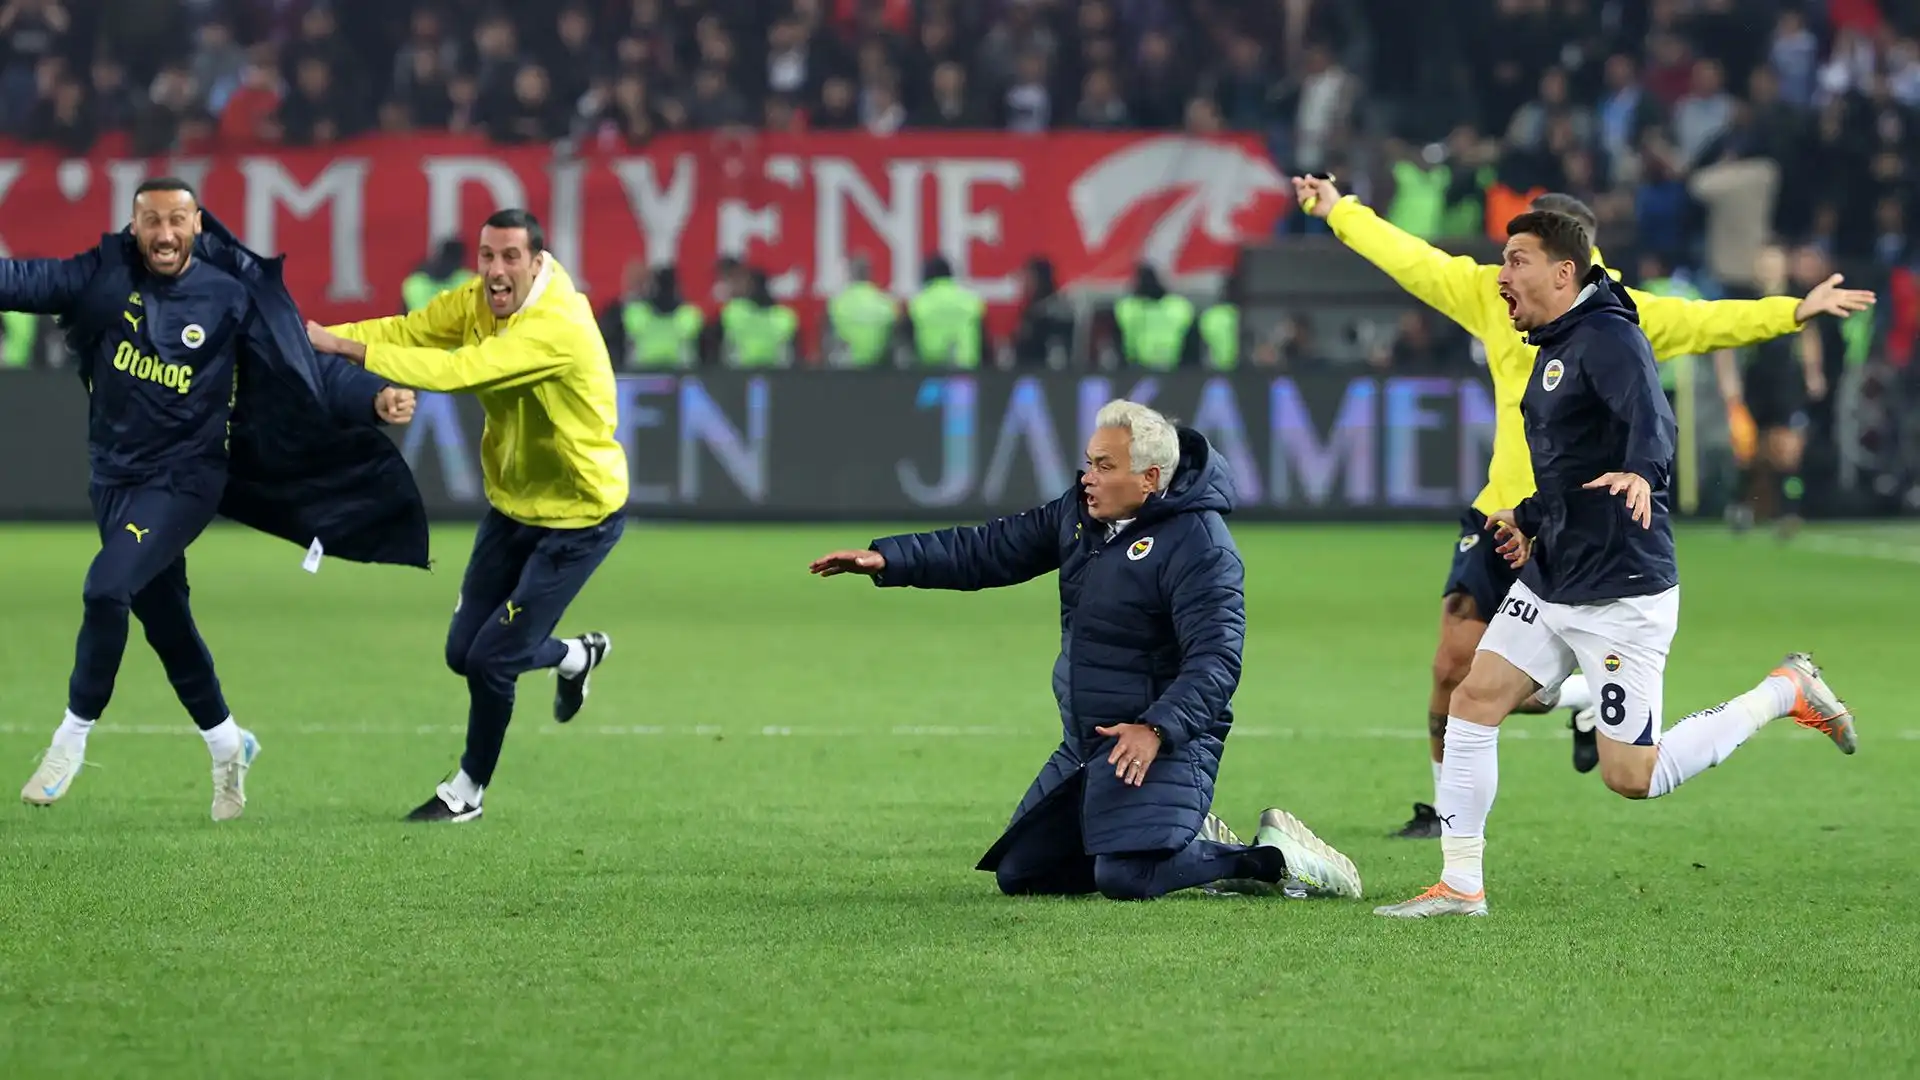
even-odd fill
[{"label": "white shorts with black number 8 on the running player", "polygon": [[1594,688],[1599,734],[1632,746],[1661,740],[1667,651],[1680,628],[1680,586],[1653,596],[1548,603],[1521,582],[1486,625],[1480,651],[1559,686],[1578,667]]}]

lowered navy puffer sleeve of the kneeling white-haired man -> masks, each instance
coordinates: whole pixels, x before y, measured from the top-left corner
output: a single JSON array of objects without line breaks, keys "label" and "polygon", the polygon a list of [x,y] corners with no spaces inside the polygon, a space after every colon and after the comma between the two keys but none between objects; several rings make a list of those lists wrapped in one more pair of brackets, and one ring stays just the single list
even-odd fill
[{"label": "lowered navy puffer sleeve of the kneeling white-haired man", "polygon": [[1140,723],[1160,728],[1164,746],[1177,748],[1206,734],[1240,686],[1246,567],[1231,548],[1210,548],[1171,573],[1181,673]]}]

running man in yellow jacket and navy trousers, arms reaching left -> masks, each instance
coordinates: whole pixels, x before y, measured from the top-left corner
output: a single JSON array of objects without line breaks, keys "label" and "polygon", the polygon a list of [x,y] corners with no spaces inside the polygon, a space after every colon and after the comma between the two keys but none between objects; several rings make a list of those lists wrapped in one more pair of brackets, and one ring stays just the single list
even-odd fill
[{"label": "running man in yellow jacket and navy trousers, arms reaching left", "polygon": [[553,719],[574,719],[612,642],[555,640],[566,605],[626,527],[626,450],[607,340],[545,250],[540,221],[501,209],[480,227],[480,277],[409,315],[321,327],[313,348],[396,386],[467,392],[486,409],[490,509],[461,580],[447,667],[467,678],[461,769],[407,821],[476,821],[513,719],[515,680],[557,669]]}]

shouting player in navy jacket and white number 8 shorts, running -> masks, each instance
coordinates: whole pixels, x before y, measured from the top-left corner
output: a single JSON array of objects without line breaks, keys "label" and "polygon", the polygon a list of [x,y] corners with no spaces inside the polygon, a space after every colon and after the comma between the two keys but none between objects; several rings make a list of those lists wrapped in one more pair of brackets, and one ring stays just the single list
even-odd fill
[{"label": "shouting player in navy jacket and white number 8 shorts, running", "polygon": [[1500,784],[1500,723],[1576,667],[1599,709],[1601,780],[1630,799],[1672,792],[1780,717],[1855,749],[1853,715],[1805,653],[1661,738],[1661,682],[1680,625],[1667,507],[1674,415],[1632,300],[1590,252],[1586,227],[1565,213],[1507,223],[1500,294],[1513,329],[1540,348],[1521,400],[1536,490],[1488,525],[1521,578],[1450,703],[1440,882],[1377,915],[1486,915],[1480,865]]}]

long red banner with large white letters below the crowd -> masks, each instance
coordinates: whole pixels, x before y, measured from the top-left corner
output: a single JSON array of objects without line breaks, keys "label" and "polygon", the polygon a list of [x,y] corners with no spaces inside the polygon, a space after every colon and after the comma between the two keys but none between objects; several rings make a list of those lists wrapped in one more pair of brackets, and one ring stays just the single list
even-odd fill
[{"label": "long red banner with large white letters below the crowd", "polygon": [[1290,190],[1252,136],[684,135],[576,158],[447,135],[171,160],[0,144],[0,250],[98,244],[154,175],[188,179],[248,246],[286,254],[296,300],[323,321],[397,311],[438,240],[470,250],[486,213],[524,206],[595,304],[636,263],[672,263],[685,298],[712,307],[714,265],[735,256],[812,323],[852,258],[910,296],[939,254],[996,332],[1033,256],[1062,288],[1119,284],[1142,259],[1169,284],[1213,277],[1273,233]]}]

